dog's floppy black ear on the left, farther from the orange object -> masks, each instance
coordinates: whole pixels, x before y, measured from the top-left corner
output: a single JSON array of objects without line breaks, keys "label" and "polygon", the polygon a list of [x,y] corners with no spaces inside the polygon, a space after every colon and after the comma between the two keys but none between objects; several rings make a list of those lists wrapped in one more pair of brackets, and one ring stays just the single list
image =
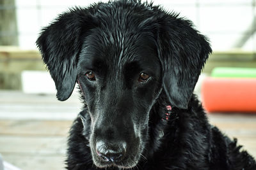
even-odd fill
[{"label": "dog's floppy black ear on the left, farther from the orange object", "polygon": [[77,60],[84,34],[92,28],[87,9],[73,8],[42,29],[36,41],[57,89],[56,97],[70,97],[77,77]]}]

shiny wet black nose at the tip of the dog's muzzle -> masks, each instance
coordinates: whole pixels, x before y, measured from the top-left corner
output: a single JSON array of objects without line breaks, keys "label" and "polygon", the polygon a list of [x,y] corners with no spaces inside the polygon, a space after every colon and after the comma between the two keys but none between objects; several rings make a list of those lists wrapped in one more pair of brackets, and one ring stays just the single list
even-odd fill
[{"label": "shiny wet black nose at the tip of the dog's muzzle", "polygon": [[105,162],[120,162],[126,152],[126,143],[111,143],[110,145],[103,141],[96,143],[97,155]]}]

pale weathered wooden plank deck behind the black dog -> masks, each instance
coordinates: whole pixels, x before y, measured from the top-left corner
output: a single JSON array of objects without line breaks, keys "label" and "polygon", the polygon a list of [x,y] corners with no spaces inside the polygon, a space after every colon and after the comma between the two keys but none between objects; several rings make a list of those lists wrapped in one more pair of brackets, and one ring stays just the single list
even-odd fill
[{"label": "pale weathered wooden plank deck behind the black dog", "polygon": [[[0,153],[24,170],[65,169],[68,129],[81,108],[74,94],[59,102],[38,96],[0,91]],[[256,157],[256,114],[209,114],[218,126]]]}]

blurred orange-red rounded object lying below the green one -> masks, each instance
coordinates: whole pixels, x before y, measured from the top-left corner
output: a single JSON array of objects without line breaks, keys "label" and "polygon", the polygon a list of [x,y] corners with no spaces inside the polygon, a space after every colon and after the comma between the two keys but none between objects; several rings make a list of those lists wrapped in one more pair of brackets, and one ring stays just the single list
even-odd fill
[{"label": "blurred orange-red rounded object lying below the green one", "polygon": [[256,113],[256,78],[205,78],[202,104],[209,112]]}]

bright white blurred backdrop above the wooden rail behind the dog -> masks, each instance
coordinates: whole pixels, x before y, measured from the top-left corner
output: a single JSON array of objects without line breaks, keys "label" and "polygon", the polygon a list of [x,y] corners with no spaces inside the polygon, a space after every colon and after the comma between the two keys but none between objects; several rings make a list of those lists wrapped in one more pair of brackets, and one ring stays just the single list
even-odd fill
[{"label": "bright white blurred backdrop above the wooden rail behind the dog", "polygon": [[[105,1],[105,0],[104,0]],[[16,0],[19,45],[35,48],[40,28],[48,25],[58,13],[72,6],[88,6],[95,0]],[[106,1],[105,1],[106,2]],[[168,11],[192,20],[196,28],[211,39],[214,51],[256,51],[256,0],[155,0]],[[254,34],[251,35],[254,30]],[[246,42],[239,43],[239,39]],[[245,39],[245,40],[243,40]]]}]

